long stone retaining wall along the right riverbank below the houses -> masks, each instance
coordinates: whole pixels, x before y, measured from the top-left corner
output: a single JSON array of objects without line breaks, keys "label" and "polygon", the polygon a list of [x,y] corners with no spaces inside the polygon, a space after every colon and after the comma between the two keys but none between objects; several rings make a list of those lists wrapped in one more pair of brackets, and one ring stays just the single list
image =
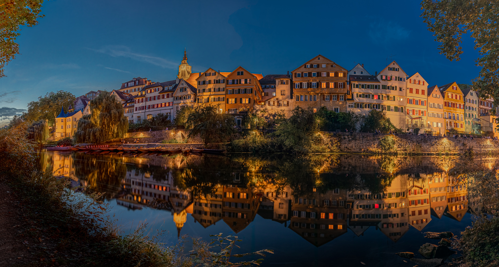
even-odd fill
[{"label": "long stone retaining wall along the right riverbank below the houses", "polygon": [[472,149],[477,154],[498,154],[499,141],[464,137],[442,137],[424,135],[393,135],[373,133],[321,132],[328,134],[339,152],[346,153],[383,153],[380,140],[392,136],[395,140],[394,152],[399,153],[457,153],[463,154]]}]

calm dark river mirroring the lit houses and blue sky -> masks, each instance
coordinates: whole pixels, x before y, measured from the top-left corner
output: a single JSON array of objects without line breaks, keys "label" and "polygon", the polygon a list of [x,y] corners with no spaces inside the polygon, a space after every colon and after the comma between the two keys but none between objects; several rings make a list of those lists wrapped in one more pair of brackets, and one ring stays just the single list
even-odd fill
[{"label": "calm dark river mirroring the lit houses and blue sky", "polygon": [[[124,234],[145,222],[168,245],[236,235],[238,253],[274,251],[262,266],[412,267],[394,254],[422,258],[419,247],[438,242],[425,232],[459,235],[480,209],[449,179],[444,156],[39,156],[41,170],[103,192]],[[499,167],[495,156],[474,161]]]}]

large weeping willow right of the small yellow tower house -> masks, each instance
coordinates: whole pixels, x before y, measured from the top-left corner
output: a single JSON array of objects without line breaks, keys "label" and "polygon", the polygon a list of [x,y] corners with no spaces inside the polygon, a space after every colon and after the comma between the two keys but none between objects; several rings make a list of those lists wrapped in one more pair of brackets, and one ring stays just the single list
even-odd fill
[{"label": "large weeping willow right of the small yellow tower house", "polygon": [[128,119],[115,95],[103,91],[89,103],[90,114],[78,120],[76,143],[104,143],[123,138],[128,131]]}]

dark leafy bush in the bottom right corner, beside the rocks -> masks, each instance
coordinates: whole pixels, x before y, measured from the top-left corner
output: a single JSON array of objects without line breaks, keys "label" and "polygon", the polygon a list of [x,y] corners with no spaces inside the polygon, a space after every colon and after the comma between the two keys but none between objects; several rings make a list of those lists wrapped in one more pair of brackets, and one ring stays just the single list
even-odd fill
[{"label": "dark leafy bush in the bottom right corner, beside the rocks", "polygon": [[473,227],[461,233],[460,249],[471,266],[484,267],[499,261],[499,213],[494,217],[478,216]]}]

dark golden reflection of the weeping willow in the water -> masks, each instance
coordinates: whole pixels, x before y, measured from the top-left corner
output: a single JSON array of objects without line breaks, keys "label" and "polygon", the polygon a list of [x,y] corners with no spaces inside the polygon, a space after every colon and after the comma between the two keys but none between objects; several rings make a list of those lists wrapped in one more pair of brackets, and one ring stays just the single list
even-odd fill
[{"label": "dark golden reflection of the weeping willow in the water", "polygon": [[73,153],[74,175],[87,182],[89,190],[105,193],[103,198],[116,198],[126,176],[126,165],[121,157]]}]

